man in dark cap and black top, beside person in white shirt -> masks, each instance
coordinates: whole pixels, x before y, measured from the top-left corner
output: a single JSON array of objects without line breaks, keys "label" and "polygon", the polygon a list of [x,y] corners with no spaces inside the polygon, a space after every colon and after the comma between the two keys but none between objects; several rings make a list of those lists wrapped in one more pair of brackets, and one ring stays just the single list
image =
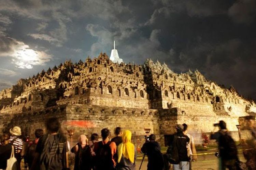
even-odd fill
[{"label": "man in dark cap and black top, beside person in white shirt", "polygon": [[[187,143],[190,139],[183,133],[184,127],[182,124],[177,124],[175,129],[176,133],[170,136],[169,147],[166,151],[166,155],[164,156],[165,160],[167,159],[171,164],[173,164],[173,170],[189,170]],[[168,169],[168,165],[166,165],[166,163],[165,169]]]}]

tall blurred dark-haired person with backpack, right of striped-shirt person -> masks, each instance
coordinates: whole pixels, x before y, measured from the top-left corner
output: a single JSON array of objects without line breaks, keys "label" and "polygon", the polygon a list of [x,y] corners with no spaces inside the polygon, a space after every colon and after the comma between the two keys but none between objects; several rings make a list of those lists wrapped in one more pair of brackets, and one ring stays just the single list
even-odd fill
[{"label": "tall blurred dark-haired person with backpack, right of striped-shirt person", "polygon": [[45,123],[47,133],[43,135],[35,148],[32,170],[64,170],[69,169],[67,138],[60,133],[60,123],[57,118],[49,118]]}]

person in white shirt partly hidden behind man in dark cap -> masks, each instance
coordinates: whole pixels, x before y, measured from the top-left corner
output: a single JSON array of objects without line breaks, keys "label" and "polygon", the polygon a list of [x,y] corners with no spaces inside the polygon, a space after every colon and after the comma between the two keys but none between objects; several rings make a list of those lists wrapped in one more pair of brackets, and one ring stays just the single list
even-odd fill
[{"label": "person in white shirt partly hidden behind man in dark cap", "polygon": [[195,147],[195,142],[194,142],[194,137],[190,134],[187,133],[187,124],[183,123],[183,133],[184,135],[187,135],[187,137],[189,137],[189,142],[187,143],[187,150],[188,150],[188,156],[189,156],[189,170],[192,169],[192,161],[196,161],[197,160],[197,151],[196,151],[196,147]]}]

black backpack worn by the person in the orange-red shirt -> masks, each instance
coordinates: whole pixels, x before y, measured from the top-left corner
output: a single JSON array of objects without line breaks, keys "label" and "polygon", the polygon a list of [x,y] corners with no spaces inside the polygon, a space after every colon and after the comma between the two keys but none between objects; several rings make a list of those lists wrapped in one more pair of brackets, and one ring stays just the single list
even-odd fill
[{"label": "black backpack worn by the person in the orange-red shirt", "polygon": [[[96,166],[104,168],[104,169],[111,169],[113,167],[113,162],[112,162],[112,153],[111,153],[111,148],[110,148],[110,141],[103,145],[102,141],[98,142],[99,148],[96,154],[97,157],[97,162]],[[101,169],[99,168],[99,169]]]}]

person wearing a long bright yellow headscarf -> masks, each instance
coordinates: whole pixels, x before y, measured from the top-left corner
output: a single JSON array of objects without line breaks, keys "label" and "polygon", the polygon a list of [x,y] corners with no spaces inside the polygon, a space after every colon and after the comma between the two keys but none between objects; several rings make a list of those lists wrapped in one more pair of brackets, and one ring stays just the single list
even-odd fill
[{"label": "person wearing a long bright yellow headscarf", "polygon": [[118,170],[135,170],[136,148],[131,143],[131,131],[125,130],[122,135],[123,142],[117,147]]}]

